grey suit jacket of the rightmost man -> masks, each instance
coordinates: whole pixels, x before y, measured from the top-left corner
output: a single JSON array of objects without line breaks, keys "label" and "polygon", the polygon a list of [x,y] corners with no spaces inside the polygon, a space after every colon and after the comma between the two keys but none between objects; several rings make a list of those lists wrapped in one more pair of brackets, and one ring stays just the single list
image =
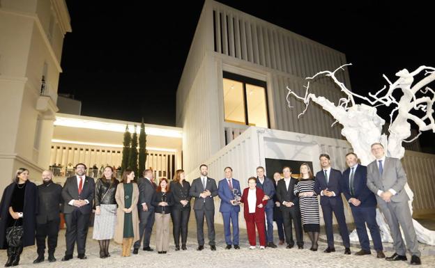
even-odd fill
[{"label": "grey suit jacket of the rightmost man", "polygon": [[392,202],[404,202],[409,200],[408,194],[405,191],[407,182],[406,173],[402,167],[402,163],[397,158],[386,157],[383,163],[383,173],[379,173],[377,160],[372,161],[367,166],[367,187],[376,195],[376,200],[383,201],[378,196],[378,190],[388,191],[393,189],[397,192],[391,197]]}]

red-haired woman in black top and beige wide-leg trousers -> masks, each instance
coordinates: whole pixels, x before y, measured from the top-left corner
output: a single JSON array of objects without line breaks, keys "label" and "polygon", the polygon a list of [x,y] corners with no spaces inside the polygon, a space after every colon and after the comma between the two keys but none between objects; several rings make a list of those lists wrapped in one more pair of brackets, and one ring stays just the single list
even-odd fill
[{"label": "red-haired woman in black top and beige wide-leg trousers", "polygon": [[169,191],[169,183],[166,178],[161,178],[153,197],[156,226],[155,247],[159,254],[166,254],[169,248],[169,219],[172,205],[174,205],[174,198]]}]

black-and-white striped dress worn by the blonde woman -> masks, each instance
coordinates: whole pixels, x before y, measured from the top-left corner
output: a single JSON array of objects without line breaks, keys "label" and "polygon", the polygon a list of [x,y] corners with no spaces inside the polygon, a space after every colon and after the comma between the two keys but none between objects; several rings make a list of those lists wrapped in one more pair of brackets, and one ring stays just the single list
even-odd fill
[{"label": "black-and-white striped dress worn by the blonde woman", "polygon": [[[299,193],[314,191],[314,182],[314,179],[299,180],[298,184],[294,187],[294,194],[298,196]],[[300,196],[299,207],[305,232],[319,232],[319,201],[317,200],[316,194],[314,194],[314,196]]]}]

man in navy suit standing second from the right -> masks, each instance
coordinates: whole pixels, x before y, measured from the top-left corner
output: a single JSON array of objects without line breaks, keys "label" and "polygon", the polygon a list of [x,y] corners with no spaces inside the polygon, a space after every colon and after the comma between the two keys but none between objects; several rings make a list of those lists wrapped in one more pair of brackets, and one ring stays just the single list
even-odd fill
[{"label": "man in navy suit standing second from the right", "polygon": [[360,240],[361,250],[355,255],[369,255],[370,240],[367,235],[365,223],[372,235],[374,250],[377,258],[385,258],[381,234],[376,223],[376,198],[367,187],[367,166],[358,164],[358,157],[354,152],[346,155],[346,163],[349,168],[343,172],[343,194],[352,210],[353,221]]}]

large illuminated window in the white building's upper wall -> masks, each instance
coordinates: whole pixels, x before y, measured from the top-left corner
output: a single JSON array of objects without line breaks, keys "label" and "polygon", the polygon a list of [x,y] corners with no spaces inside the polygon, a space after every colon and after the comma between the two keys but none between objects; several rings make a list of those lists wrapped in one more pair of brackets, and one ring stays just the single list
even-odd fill
[{"label": "large illuminated window in the white building's upper wall", "polygon": [[224,72],[224,120],[269,127],[266,82]]}]

